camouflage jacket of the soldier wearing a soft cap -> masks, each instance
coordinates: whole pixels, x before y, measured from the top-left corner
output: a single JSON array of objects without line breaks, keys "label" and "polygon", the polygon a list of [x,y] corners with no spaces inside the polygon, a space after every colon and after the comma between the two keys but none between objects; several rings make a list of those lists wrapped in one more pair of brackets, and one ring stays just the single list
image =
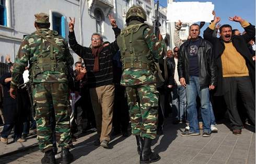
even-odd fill
[{"label": "camouflage jacket of the soldier wearing a soft cap", "polygon": [[25,67],[29,63],[29,74],[32,83],[67,83],[67,67],[74,63],[68,45],[57,31],[39,29],[38,32],[54,40],[54,46],[36,32],[26,36],[20,45],[15,59],[11,87],[18,85]]}]

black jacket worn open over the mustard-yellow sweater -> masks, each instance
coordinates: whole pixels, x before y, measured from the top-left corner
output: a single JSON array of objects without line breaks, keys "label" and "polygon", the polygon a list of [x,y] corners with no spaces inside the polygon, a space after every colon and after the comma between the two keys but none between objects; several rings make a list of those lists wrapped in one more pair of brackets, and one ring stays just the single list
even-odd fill
[{"label": "black jacket worn open over the mustard-yellow sweater", "polygon": [[[246,34],[242,36],[232,36],[231,41],[232,44],[235,46],[236,50],[245,58],[246,64],[249,70],[249,75],[251,77],[253,87],[255,87],[255,63],[252,61],[252,55],[247,47],[247,42],[251,40],[252,37],[255,36],[255,28],[250,25],[245,28]],[[214,49],[214,57],[217,64],[217,88],[215,92],[215,96],[222,96],[223,95],[223,88],[222,88],[222,59],[221,55],[225,50],[225,45],[222,38],[213,38],[212,37],[213,30],[209,27],[204,30],[204,39],[210,41],[213,44]],[[255,90],[255,89],[254,89]]]}]

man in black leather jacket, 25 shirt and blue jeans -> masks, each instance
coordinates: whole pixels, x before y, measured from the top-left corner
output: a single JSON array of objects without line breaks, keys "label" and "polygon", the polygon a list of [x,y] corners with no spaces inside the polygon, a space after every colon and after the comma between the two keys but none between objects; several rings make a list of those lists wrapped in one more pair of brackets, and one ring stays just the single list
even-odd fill
[{"label": "man in black leather jacket, 25 shirt and blue jeans", "polygon": [[200,135],[196,111],[196,97],[201,100],[203,137],[211,135],[211,108],[209,90],[216,86],[217,68],[212,54],[212,45],[199,37],[200,27],[190,26],[191,39],[180,46],[178,74],[180,84],[186,88],[187,112],[190,129],[181,136]]}]

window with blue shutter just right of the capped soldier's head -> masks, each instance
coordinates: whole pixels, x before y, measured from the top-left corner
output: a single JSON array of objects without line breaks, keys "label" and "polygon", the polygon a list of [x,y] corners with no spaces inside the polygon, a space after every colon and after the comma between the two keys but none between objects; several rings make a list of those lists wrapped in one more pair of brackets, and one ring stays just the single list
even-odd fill
[{"label": "window with blue shutter just right of the capped soldier's head", "polygon": [[52,14],[52,27],[53,30],[57,31],[63,38],[65,38],[65,22],[66,17],[59,13]]}]

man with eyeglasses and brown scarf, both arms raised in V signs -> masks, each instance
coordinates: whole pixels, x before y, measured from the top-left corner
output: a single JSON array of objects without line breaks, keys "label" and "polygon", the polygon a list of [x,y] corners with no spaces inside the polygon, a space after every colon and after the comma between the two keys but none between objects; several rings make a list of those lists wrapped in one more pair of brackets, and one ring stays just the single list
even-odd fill
[{"label": "man with eyeglasses and brown scarf, both arms raised in V signs", "polygon": [[[87,68],[88,87],[92,108],[94,109],[98,138],[95,145],[109,147],[110,133],[112,130],[112,115],[114,101],[113,66],[112,58],[118,52],[117,41],[103,44],[99,33],[91,36],[91,48],[79,45],[75,38],[75,18],[69,22],[69,44],[71,49],[84,59]],[[109,16],[115,36],[120,33],[113,16]]]}]

